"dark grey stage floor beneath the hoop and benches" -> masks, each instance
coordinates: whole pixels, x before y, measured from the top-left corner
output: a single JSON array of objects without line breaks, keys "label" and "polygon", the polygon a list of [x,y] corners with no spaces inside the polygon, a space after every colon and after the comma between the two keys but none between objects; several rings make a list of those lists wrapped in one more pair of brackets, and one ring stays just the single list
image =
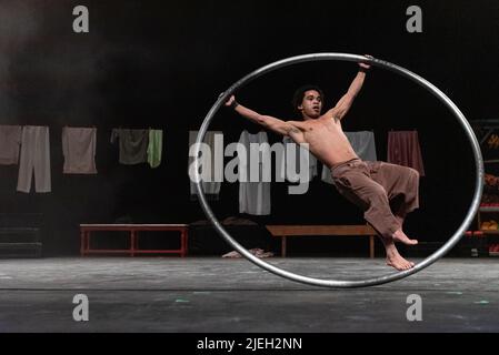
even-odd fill
[{"label": "dark grey stage floor beneath the hoop and benches", "polygon": [[[382,258],[266,261],[320,278],[391,273]],[[88,296],[88,322],[73,320],[76,294]],[[422,321],[407,318],[411,294]],[[298,284],[243,258],[0,260],[0,332],[499,332],[499,260],[442,258],[353,290]]]}]

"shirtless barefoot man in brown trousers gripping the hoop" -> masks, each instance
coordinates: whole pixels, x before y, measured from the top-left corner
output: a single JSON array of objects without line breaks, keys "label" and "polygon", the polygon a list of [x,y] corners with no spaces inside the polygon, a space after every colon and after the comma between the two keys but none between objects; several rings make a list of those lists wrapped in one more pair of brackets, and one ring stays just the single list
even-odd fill
[{"label": "shirtless barefoot man in brown trousers gripping the hoop", "polygon": [[260,114],[239,104],[233,95],[226,105],[296,143],[308,143],[310,152],[331,170],[337,190],[363,210],[365,219],[381,237],[387,264],[399,271],[409,270],[415,264],[399,254],[395,242],[418,243],[403,233],[402,223],[407,213],[419,206],[419,173],[406,166],[361,161],[341,128],[341,120],[362,88],[369,68],[359,63],[359,72],[347,93],[325,114],[321,114],[323,95],[319,88],[307,85],[297,90],[295,108],[302,121]]}]

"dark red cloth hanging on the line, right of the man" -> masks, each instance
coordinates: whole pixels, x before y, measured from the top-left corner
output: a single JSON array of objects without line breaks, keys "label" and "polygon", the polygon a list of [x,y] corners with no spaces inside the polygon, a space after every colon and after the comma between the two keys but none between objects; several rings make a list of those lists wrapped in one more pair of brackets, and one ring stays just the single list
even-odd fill
[{"label": "dark red cloth hanging on the line, right of the man", "polygon": [[388,132],[387,161],[392,164],[416,169],[420,176],[425,176],[418,131]]}]

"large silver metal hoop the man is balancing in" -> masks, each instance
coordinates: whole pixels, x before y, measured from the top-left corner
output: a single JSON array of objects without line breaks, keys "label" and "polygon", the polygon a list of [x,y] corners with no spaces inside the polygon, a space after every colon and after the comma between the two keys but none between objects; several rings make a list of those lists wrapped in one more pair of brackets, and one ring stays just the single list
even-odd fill
[{"label": "large silver metal hoop the man is balancing in", "polygon": [[[220,224],[220,222],[214,216],[213,212],[211,211],[210,206],[207,203],[204,193],[201,189],[200,184],[200,175],[199,175],[199,164],[198,161],[194,160],[194,173],[196,173],[196,189],[198,192],[199,201],[201,203],[201,207],[204,211],[207,217],[210,220],[210,222],[213,224],[217,232],[230,244],[233,246],[234,250],[237,250],[239,253],[241,253],[246,258],[248,258],[250,262],[255,263],[256,265],[276,274],[282,277],[286,277],[291,281],[315,285],[315,286],[323,286],[323,287],[362,287],[362,286],[372,286],[372,285],[380,285],[388,282],[392,282],[396,280],[400,280],[402,277],[409,276],[411,274],[415,274],[422,268],[431,265],[436,261],[438,261],[440,257],[442,257],[447,252],[449,252],[462,237],[465,234],[465,231],[469,226],[469,224],[472,222],[472,219],[475,217],[480,200],[481,200],[481,193],[483,190],[483,161],[481,158],[480,152],[480,145],[477,141],[477,138],[475,136],[475,133],[469,125],[468,121],[466,120],[462,112],[458,109],[458,106],[443,93],[441,92],[437,87],[435,87],[432,83],[427,81],[426,79],[415,74],[413,72],[401,68],[399,65],[392,64],[390,62],[379,60],[376,58],[367,58],[363,55],[357,55],[357,54],[349,54],[349,53],[311,53],[311,54],[303,54],[303,55],[297,55],[287,58],[273,63],[270,63],[268,65],[265,65],[260,69],[255,70],[253,72],[249,73],[244,78],[237,81],[234,84],[232,84],[226,92],[223,92],[218,100],[214,102],[214,104],[211,106],[210,111],[204,118],[204,121],[201,124],[201,128],[199,130],[196,143],[198,143],[197,146],[199,146],[199,143],[201,143],[204,139],[204,134],[208,130],[208,126],[210,125],[211,120],[213,119],[217,111],[220,109],[220,106],[228,100],[228,98],[239,88],[241,88],[243,84],[247,84],[248,82],[257,79],[258,77],[261,77],[265,73],[268,73],[270,71],[277,70],[282,67],[288,67],[291,64],[302,63],[302,62],[310,62],[310,61],[325,61],[325,60],[337,60],[337,61],[350,61],[350,62],[366,62],[376,67],[381,67],[387,70],[393,71],[407,79],[410,79],[415,81],[416,83],[420,84],[428,91],[430,91],[435,97],[437,97],[456,116],[462,129],[465,130],[465,133],[469,140],[469,143],[471,144],[473,158],[475,158],[475,166],[476,166],[476,186],[475,186],[475,193],[471,201],[471,205],[468,209],[468,213],[466,214],[465,220],[462,221],[461,225],[458,227],[458,230],[453,233],[453,235],[445,243],[438,251],[436,251],[433,254],[425,258],[419,264],[415,265],[415,267],[401,271],[401,272],[395,272],[388,275],[373,277],[373,278],[367,278],[367,280],[356,280],[356,281],[336,281],[336,280],[322,280],[322,278],[313,278],[308,277],[299,274],[295,274],[291,272],[288,272],[286,270],[279,268],[277,266],[273,266],[269,263],[263,262],[262,260],[256,257],[250,252],[248,252],[243,246],[241,246],[239,243],[237,243],[230,234],[223,229],[223,226]],[[197,152],[197,155],[199,154],[199,151]],[[196,155],[196,156],[197,156]]]}]

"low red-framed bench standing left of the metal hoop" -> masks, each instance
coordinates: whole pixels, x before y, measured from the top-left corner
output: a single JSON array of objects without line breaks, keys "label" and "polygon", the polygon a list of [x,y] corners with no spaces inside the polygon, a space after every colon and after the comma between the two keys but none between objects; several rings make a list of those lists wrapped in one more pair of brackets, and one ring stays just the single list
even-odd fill
[{"label": "low red-framed bench standing left of the metal hoop", "polygon": [[[124,231],[130,232],[129,248],[91,248],[90,233],[96,231]],[[178,250],[141,250],[139,248],[140,231],[177,231],[180,232],[180,248]],[[134,256],[136,254],[179,254],[187,255],[188,224],[80,224],[82,256],[89,254],[121,253]]]}]

